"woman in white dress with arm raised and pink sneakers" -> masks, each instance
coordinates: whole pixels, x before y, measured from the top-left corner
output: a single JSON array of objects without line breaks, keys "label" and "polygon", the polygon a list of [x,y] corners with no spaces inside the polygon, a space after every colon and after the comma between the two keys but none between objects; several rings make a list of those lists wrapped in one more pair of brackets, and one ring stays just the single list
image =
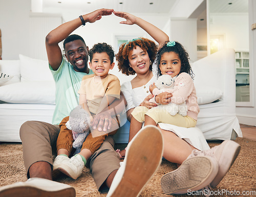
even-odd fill
[{"label": "woman in white dress with arm raised and pink sneakers", "polygon": [[[114,14],[126,19],[126,21],[121,21],[120,23],[137,24],[140,28],[145,30],[158,42],[158,48],[161,48],[166,41],[169,41],[168,36],[164,32],[155,27],[153,24],[146,22],[139,17],[125,12],[114,11]],[[156,106],[156,104],[149,102],[153,95],[151,95],[148,91],[149,86],[156,80],[152,69],[152,63],[154,62],[155,56],[156,45],[152,43],[151,40],[146,38],[133,39],[127,43],[123,43],[119,48],[119,52],[117,54],[119,70],[121,70],[125,75],[137,74],[137,76],[131,82],[123,83],[121,86],[121,90],[127,101],[127,118],[129,121],[131,121],[131,125],[134,119],[131,118],[131,113],[135,107],[144,106],[150,109]],[[164,92],[156,95],[155,100],[160,104],[168,104],[170,102],[170,97],[172,97],[172,93]],[[161,125],[161,127],[159,125]],[[179,170],[180,168],[178,168],[177,170],[163,176],[161,186],[163,191],[168,194],[186,193],[188,188],[195,191],[202,189],[208,184],[210,184],[212,187],[216,187],[226,175],[228,169],[231,167],[233,161],[236,159],[240,151],[240,145],[230,140],[225,141],[221,145],[209,150],[209,146],[204,138],[204,135],[196,128],[189,128],[194,130],[193,132],[187,132],[186,128],[185,130],[182,130],[181,128],[174,129],[172,125],[169,124],[159,123],[158,127],[160,129],[162,128],[161,132],[164,139],[163,157],[170,162],[177,163],[178,166],[184,162],[186,164],[184,164],[182,169],[187,168],[186,170]],[[134,130],[130,128],[129,142],[132,140],[135,134],[136,133]],[[185,141],[184,138],[186,138],[187,141]],[[119,154],[120,157],[124,156],[125,150],[122,150]],[[180,175],[184,173],[184,171],[189,171],[190,169],[192,170],[192,174],[196,174],[197,170],[194,171],[193,169],[195,169],[194,167],[197,164],[189,163],[188,160],[191,157],[199,158],[198,156],[210,158],[211,167],[206,168],[207,170],[211,169],[215,174],[209,173],[207,178],[204,177],[204,180],[199,180],[195,184],[193,180],[195,177],[190,180],[187,178],[189,177],[187,173],[183,174],[184,176]],[[228,162],[223,162],[225,159],[222,160],[221,158],[228,158]],[[206,165],[207,164],[202,164],[202,167],[205,167]],[[191,168],[187,166],[190,166]],[[199,174],[196,176],[205,176],[200,174],[201,171],[203,170],[200,169],[198,172]],[[174,189],[174,187],[177,186],[175,183],[176,181],[179,182],[177,183],[179,186]],[[191,184],[195,185],[191,187]]]}]

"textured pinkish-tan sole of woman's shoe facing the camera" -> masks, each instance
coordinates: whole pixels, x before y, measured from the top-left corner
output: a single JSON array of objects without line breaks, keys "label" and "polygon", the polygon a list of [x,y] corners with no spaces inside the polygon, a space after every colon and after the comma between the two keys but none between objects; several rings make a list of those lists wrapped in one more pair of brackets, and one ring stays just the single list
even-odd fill
[{"label": "textured pinkish-tan sole of woman's shoe facing the camera", "polygon": [[209,185],[217,172],[218,162],[215,159],[208,156],[189,158],[178,169],[162,177],[161,187],[166,194],[197,191]]}]

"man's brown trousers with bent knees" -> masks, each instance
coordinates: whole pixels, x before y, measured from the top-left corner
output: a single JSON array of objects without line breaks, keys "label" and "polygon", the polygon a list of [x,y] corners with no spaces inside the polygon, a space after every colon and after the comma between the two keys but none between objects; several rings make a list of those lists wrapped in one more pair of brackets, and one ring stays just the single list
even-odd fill
[{"label": "man's brown trousers with bent knees", "polygon": [[[26,121],[19,130],[23,145],[24,164],[29,178],[29,167],[38,161],[46,161],[53,164],[56,156],[56,141],[59,134],[59,126],[47,122]],[[99,192],[107,192],[103,184],[112,173],[120,167],[120,160],[114,150],[114,138],[105,138],[99,149],[88,161],[90,171]]]}]

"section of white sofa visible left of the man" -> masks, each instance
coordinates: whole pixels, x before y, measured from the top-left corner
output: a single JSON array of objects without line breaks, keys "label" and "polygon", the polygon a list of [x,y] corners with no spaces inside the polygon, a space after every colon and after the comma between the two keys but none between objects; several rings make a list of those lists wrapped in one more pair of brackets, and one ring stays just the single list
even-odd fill
[{"label": "section of white sofa visible left of the man", "polygon": [[47,61],[19,55],[0,60],[0,141],[20,142],[19,128],[27,120],[51,122],[55,108],[55,83]]}]

